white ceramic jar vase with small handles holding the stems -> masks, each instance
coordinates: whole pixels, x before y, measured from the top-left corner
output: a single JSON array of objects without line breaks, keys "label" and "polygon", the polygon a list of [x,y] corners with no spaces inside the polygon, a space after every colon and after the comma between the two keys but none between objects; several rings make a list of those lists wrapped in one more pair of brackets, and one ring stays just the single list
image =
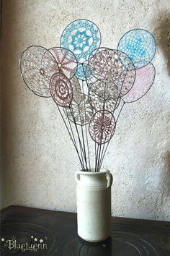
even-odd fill
[{"label": "white ceramic jar vase with small handles holding the stems", "polygon": [[111,231],[112,174],[78,171],[76,182],[78,234],[88,242],[103,241]]}]

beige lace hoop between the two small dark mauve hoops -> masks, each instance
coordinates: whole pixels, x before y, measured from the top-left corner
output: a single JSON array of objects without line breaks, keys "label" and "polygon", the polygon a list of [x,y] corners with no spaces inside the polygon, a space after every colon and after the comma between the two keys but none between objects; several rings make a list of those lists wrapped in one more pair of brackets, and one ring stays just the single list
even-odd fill
[{"label": "beige lace hoop between the two small dark mauve hoops", "polygon": [[79,102],[73,99],[70,108],[65,109],[65,114],[68,119],[75,124],[81,126],[89,124],[91,116],[93,115],[93,109],[87,95],[81,93],[81,100]]}]

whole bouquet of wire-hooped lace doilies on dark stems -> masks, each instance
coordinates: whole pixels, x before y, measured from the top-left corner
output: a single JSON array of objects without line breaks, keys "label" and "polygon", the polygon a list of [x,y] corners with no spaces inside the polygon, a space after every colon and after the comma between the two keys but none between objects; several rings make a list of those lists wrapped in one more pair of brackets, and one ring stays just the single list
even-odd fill
[{"label": "whole bouquet of wire-hooped lace doilies on dark stems", "polygon": [[97,25],[76,20],[63,30],[60,47],[30,46],[20,58],[27,87],[56,103],[84,171],[100,170],[122,107],[142,98],[155,78],[151,33],[130,30],[117,49],[101,48],[101,40]]}]

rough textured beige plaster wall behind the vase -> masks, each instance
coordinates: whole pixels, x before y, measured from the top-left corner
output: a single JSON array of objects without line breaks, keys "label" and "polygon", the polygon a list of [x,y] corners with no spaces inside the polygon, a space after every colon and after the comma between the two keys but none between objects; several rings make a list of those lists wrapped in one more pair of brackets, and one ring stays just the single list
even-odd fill
[{"label": "rough textured beige plaster wall behind the vase", "polygon": [[170,221],[169,0],[4,0],[2,61],[2,207],[76,211],[78,159],[51,99],[24,85],[19,56],[31,45],[59,46],[69,22],[85,18],[116,48],[127,30],[156,36],[156,80],[142,101],[125,106],[104,167],[112,171],[112,214]]}]

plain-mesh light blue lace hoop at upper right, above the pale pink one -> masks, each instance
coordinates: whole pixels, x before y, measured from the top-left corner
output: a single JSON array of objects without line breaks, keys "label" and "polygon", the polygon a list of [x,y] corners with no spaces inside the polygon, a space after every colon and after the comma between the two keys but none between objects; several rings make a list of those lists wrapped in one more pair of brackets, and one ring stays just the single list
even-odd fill
[{"label": "plain-mesh light blue lace hoop at upper right, above the pale pink one", "polygon": [[156,40],[147,30],[134,29],[125,33],[117,49],[127,54],[135,64],[135,69],[146,66],[156,54]]}]

